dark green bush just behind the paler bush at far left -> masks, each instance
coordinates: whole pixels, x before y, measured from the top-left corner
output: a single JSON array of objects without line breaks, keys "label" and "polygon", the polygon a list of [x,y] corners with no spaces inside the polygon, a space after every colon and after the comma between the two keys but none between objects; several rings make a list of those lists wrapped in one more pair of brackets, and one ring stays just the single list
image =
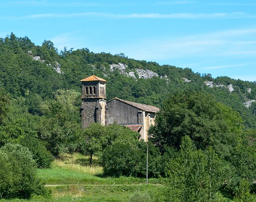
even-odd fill
[{"label": "dark green bush just behind the paler bush at far left", "polygon": [[25,136],[21,145],[27,147],[33,155],[37,167],[48,168],[53,161],[53,155],[46,149],[44,142],[34,136]]}]

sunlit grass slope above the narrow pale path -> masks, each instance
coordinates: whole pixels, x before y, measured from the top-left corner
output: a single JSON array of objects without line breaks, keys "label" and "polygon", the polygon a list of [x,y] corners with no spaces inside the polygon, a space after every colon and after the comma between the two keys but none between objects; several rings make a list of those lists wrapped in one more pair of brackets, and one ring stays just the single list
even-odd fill
[{"label": "sunlit grass slope above the narrow pale path", "polygon": [[[102,177],[103,168],[98,159],[93,158],[92,167],[89,157],[81,154],[62,154],[48,169],[38,169],[38,175],[45,184],[145,184],[146,179],[138,177]],[[150,184],[159,184],[159,179],[149,179]]]}]

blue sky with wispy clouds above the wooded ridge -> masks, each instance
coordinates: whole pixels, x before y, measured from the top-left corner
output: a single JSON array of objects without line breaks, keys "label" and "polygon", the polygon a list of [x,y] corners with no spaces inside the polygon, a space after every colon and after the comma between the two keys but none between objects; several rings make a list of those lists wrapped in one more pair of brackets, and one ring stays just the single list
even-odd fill
[{"label": "blue sky with wispy clouds above the wooded ridge", "polygon": [[0,0],[0,37],[256,80],[256,0]]}]

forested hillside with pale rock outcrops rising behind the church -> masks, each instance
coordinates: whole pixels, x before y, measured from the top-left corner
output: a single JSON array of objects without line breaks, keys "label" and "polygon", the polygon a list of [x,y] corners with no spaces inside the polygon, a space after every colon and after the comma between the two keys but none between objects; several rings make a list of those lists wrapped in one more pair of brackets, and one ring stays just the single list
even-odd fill
[{"label": "forested hillside with pale rock outcrops rising behind the church", "polygon": [[22,101],[20,105],[31,114],[40,115],[39,104],[52,99],[57,89],[80,92],[80,79],[92,75],[93,67],[95,75],[108,81],[108,100],[119,97],[161,106],[168,94],[189,86],[210,92],[217,101],[238,111],[247,127],[256,127],[256,82],[214,79],[189,68],[134,60],[123,53],[93,53],[88,48],[58,52],[51,41],[37,46],[28,37],[13,33],[0,39],[0,88],[12,99]]}]

